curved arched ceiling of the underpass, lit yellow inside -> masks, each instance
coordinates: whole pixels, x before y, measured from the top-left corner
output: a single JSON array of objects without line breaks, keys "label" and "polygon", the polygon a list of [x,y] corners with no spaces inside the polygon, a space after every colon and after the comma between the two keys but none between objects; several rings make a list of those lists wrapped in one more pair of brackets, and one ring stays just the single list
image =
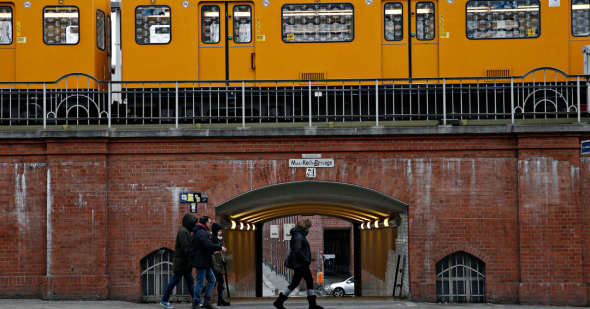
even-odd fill
[{"label": "curved arched ceiling of the underpass, lit yellow inside", "polygon": [[221,217],[251,223],[288,215],[327,215],[363,222],[407,212],[408,204],[358,185],[296,181],[246,192],[217,205],[215,211]]}]

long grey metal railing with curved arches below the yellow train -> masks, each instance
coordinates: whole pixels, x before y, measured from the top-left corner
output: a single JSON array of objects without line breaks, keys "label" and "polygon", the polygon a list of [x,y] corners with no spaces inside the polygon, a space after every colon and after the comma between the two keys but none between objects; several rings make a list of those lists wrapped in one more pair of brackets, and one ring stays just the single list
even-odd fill
[{"label": "long grey metal railing with curved arches below the yellow train", "polygon": [[0,126],[586,122],[588,78],[555,68],[520,77],[313,81],[98,81],[74,73],[55,82],[0,82]]}]

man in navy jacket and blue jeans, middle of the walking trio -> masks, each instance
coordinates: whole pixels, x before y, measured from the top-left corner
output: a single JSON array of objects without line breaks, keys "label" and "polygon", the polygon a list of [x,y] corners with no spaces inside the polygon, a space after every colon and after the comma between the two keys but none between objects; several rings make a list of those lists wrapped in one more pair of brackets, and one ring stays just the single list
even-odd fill
[{"label": "man in navy jacket and blue jeans, middle of the walking trio", "polygon": [[202,302],[203,308],[216,309],[211,304],[211,291],[215,286],[215,274],[211,270],[212,254],[215,251],[227,251],[225,247],[216,245],[211,242],[209,238],[209,229],[211,228],[211,218],[203,216],[199,219],[199,224],[195,225],[192,237],[193,245],[195,247],[195,256],[192,259],[192,267],[196,270],[195,290],[193,295],[192,309],[198,309],[201,303],[201,288],[205,284],[207,278],[207,288],[205,289],[205,297]]}]

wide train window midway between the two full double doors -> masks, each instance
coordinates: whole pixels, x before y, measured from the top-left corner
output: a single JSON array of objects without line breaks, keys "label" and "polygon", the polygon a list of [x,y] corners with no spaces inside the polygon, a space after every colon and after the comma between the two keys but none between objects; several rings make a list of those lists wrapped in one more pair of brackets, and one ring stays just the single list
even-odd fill
[{"label": "wide train window midway between the two full double doors", "polygon": [[283,42],[350,42],[354,6],[348,3],[283,5]]}]

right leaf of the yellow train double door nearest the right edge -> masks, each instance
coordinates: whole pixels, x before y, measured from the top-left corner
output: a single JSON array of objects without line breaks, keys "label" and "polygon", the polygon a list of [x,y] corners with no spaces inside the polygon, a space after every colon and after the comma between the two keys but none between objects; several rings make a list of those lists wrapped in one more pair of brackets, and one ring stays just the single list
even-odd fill
[{"label": "right leaf of the yellow train double door nearest the right edge", "polygon": [[437,1],[410,0],[411,77],[438,77]]}]

